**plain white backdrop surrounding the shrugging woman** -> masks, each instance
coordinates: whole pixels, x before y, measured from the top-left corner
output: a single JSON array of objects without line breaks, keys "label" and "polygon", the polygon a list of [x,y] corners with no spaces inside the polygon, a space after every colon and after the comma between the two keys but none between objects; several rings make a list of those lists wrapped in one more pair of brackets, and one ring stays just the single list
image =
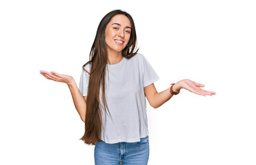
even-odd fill
[{"label": "plain white backdrop surrounding the shrugging woman", "polygon": [[0,164],[94,164],[94,146],[68,85],[39,70],[73,76],[101,19],[132,15],[139,53],[160,77],[157,91],[188,78],[215,96],[181,89],[148,104],[148,164],[256,164],[256,5],[253,1],[1,1]]}]

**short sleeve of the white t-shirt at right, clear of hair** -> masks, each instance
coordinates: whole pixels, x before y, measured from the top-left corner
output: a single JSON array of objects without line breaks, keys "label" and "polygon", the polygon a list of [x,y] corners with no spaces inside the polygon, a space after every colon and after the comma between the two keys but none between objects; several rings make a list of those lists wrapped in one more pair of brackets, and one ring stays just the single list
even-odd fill
[{"label": "short sleeve of the white t-shirt at right, clear of hair", "polygon": [[143,58],[143,81],[144,81],[144,87],[147,87],[148,85],[155,83],[155,81],[159,80],[159,76],[155,72],[155,70],[152,68],[150,63],[148,63],[148,60],[145,58],[143,54],[141,54]]}]

